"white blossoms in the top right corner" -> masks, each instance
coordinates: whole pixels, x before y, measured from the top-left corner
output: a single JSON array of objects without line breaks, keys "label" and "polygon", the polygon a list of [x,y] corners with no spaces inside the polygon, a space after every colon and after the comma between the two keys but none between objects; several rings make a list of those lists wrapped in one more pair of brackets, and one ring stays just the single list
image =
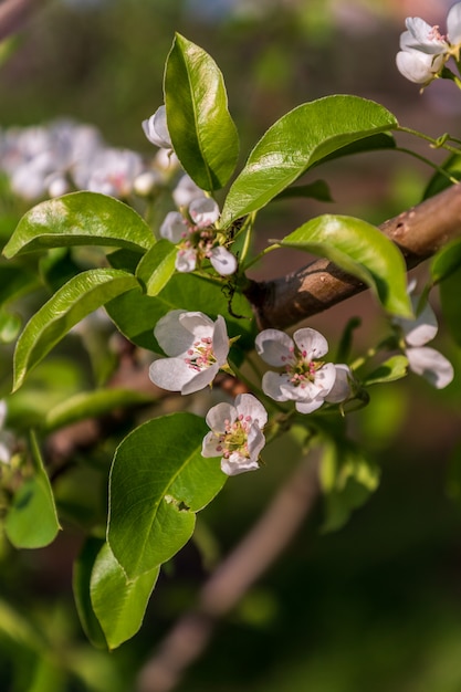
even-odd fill
[{"label": "white blossoms in the top right corner", "polygon": [[[399,72],[417,84],[426,86],[439,76],[451,76],[446,63],[454,57],[459,64],[461,49],[461,2],[453,4],[447,17],[447,35],[439,27],[430,27],[419,17],[408,17],[407,31],[400,35],[400,52],[397,53]],[[446,70],[446,74],[442,72]]]}]

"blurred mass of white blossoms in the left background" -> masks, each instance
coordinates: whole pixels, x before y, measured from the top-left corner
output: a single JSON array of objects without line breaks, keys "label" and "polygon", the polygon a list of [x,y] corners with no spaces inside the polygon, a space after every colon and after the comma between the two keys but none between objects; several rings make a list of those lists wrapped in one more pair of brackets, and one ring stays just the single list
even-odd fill
[{"label": "blurred mass of white blossoms in the left background", "polygon": [[0,172],[28,201],[90,190],[126,199],[164,186],[177,169],[160,150],[146,164],[140,154],[107,146],[92,125],[57,120],[0,129]]}]

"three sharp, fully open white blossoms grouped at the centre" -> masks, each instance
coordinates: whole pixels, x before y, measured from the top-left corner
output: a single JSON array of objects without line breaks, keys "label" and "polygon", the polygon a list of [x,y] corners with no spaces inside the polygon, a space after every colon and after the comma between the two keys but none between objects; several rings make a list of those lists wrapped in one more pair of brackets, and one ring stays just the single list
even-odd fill
[{"label": "three sharp, fully open white blossoms grouped at the centre", "polygon": [[[174,310],[158,321],[154,335],[169,356],[158,358],[149,369],[151,381],[163,389],[192,394],[211,385],[218,370],[229,370],[230,340],[221,315],[213,322],[200,312]],[[256,337],[263,359],[283,368],[281,374],[264,375],[264,394],[275,401],[295,401],[302,413],[325,401],[349,398],[349,368],[319,359],[327,353],[326,339],[308,328],[295,332],[293,339],[277,329],[265,329]],[[239,395],[233,405],[218,403],[206,420],[211,432],[203,440],[203,457],[220,455],[221,469],[229,475],[259,468],[268,413],[253,395]]]}]

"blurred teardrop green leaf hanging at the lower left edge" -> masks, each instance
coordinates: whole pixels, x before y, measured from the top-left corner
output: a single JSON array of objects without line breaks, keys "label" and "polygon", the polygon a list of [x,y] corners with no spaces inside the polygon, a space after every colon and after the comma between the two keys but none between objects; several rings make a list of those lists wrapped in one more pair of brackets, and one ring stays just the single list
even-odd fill
[{"label": "blurred teardrop green leaf hanging at the lower left edge", "polygon": [[53,492],[34,436],[31,451],[34,475],[15,493],[4,522],[6,534],[17,548],[44,547],[60,530]]}]

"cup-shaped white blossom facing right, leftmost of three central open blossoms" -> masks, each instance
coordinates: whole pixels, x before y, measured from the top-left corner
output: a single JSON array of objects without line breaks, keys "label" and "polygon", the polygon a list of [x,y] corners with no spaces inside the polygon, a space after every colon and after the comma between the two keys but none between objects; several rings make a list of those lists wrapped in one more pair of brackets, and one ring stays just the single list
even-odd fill
[{"label": "cup-shaped white blossom facing right, leftmost of three central open blossoms", "polygon": [[203,389],[227,365],[229,337],[224,318],[216,322],[200,312],[174,310],[161,317],[154,335],[169,358],[154,360],[151,381],[182,395]]}]

